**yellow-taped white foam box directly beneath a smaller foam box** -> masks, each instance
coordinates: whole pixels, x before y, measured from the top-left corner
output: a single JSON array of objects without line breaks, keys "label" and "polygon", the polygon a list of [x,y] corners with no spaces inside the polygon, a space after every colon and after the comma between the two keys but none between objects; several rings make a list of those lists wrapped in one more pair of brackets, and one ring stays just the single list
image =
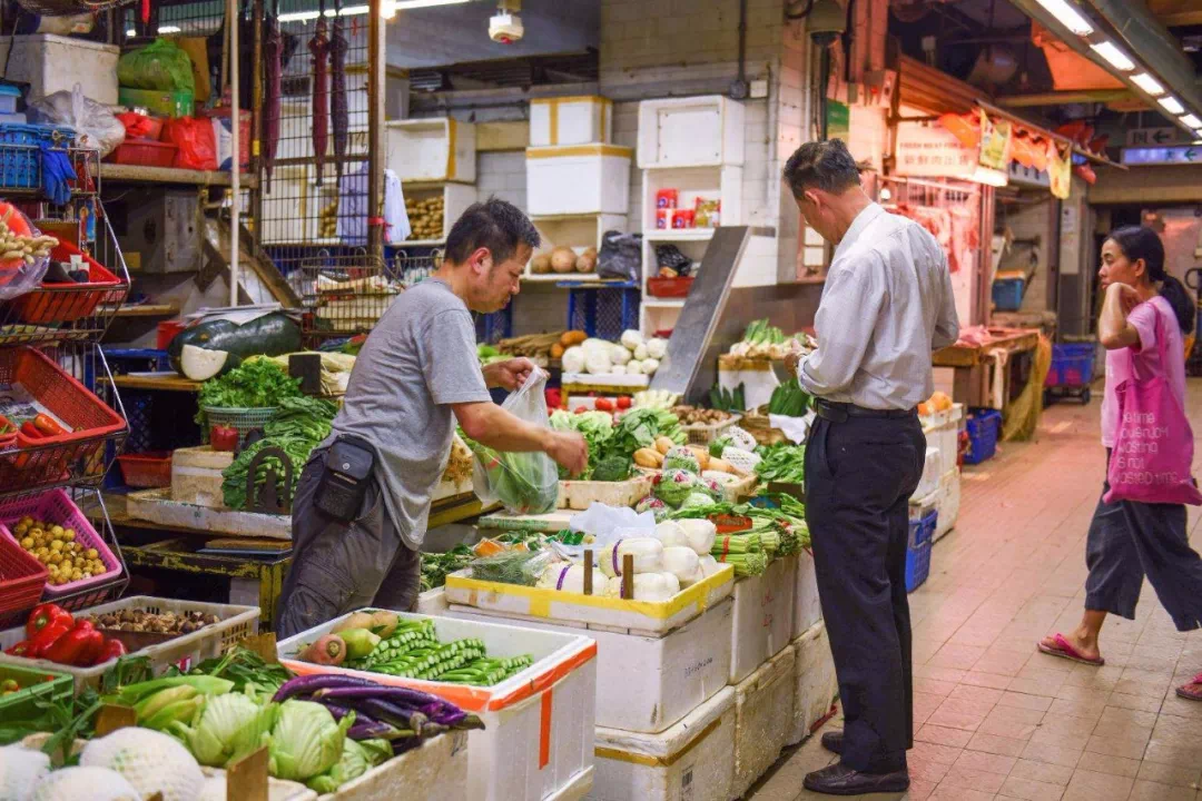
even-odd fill
[{"label": "yellow-taped white foam box directly beneath a smaller foam box", "polygon": [[632,155],[613,144],[526,148],[526,214],[626,214]]}]

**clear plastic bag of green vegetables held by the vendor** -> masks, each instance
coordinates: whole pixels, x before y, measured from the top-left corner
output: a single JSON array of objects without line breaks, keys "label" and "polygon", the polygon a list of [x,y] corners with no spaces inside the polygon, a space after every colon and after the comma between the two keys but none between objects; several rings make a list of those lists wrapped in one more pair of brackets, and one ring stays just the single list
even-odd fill
[{"label": "clear plastic bag of green vegetables held by the vendor", "polygon": [[[547,428],[547,373],[531,372],[526,382],[501,404],[510,414]],[[559,468],[545,453],[501,453],[472,443],[472,482],[486,504],[500,502],[512,514],[546,514],[555,508]]]}]

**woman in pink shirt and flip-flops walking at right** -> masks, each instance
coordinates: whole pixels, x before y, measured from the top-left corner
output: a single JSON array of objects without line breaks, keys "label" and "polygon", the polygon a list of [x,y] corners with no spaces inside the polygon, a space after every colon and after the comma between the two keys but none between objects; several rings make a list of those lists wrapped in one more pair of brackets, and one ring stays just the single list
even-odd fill
[{"label": "woman in pink shirt and flip-flops walking at right", "polygon": [[[1195,307],[1182,282],[1165,271],[1165,246],[1152,228],[1112,233],[1102,245],[1099,277],[1106,291],[1097,335],[1106,348],[1102,444],[1108,460],[1119,429],[1115,390],[1124,381],[1162,376],[1184,407],[1182,335],[1194,328]],[[1164,348],[1158,336],[1165,337]],[[1202,627],[1202,558],[1190,549],[1185,521],[1184,504],[1099,501],[1085,540],[1085,614],[1076,630],[1040,641],[1040,651],[1105,664],[1097,634],[1106,615],[1135,620],[1144,575],[1178,630]],[[1202,674],[1177,694],[1202,700]]]}]

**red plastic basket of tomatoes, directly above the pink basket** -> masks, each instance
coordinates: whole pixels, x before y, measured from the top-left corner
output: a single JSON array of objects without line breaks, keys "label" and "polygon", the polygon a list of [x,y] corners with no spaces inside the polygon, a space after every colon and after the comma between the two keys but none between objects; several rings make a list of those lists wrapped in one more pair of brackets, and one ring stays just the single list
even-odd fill
[{"label": "red plastic basket of tomatoes, directly above the pink basket", "polygon": [[69,429],[38,440],[18,432],[18,449],[0,455],[0,486],[56,483],[70,462],[93,459],[125,429],[120,414],[34,348],[0,348],[0,384],[19,384]]}]

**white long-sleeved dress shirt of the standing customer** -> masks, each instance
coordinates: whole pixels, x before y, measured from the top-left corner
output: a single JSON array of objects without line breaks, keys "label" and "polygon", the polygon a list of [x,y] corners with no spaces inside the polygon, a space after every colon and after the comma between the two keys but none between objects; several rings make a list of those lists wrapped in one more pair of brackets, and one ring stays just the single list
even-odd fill
[{"label": "white long-sleeved dress shirt of the standing customer", "polygon": [[932,351],[959,336],[947,256],[926,228],[870,204],[835,249],[815,329],[819,348],[797,369],[807,391],[914,408],[935,391]]}]

